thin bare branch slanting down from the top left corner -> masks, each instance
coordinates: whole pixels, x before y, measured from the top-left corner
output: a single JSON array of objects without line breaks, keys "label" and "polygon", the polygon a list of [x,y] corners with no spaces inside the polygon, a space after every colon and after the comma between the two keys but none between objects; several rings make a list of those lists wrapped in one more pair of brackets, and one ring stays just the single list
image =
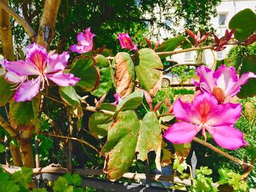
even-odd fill
[{"label": "thin bare branch slanting down from the top left corner", "polygon": [[33,40],[36,36],[36,33],[34,32],[34,29],[31,28],[29,23],[26,22],[23,18],[20,17],[16,12],[14,12],[7,4],[4,3],[4,1],[0,0],[0,7],[4,9],[6,12],[8,12],[10,15],[12,15],[12,18],[15,18],[18,23],[20,23],[21,26],[25,29],[25,31],[29,34],[29,37]]}]

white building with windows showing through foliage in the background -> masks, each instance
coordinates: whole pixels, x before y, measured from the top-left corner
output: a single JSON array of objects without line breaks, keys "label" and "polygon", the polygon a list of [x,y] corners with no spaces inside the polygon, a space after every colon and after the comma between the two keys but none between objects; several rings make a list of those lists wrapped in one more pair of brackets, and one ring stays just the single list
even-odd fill
[{"label": "white building with windows showing through foliage in the background", "polygon": [[[217,29],[217,36],[222,37],[225,35],[225,30],[228,29],[228,23],[233,15],[236,15],[237,12],[243,9],[252,9],[255,11],[256,9],[256,0],[222,0],[222,2],[217,7],[218,16],[217,18],[212,18],[211,23],[213,23],[213,27]],[[156,9],[157,14],[157,9]],[[168,21],[165,21],[168,22]],[[172,37],[167,30],[163,28],[155,28],[154,34],[157,33],[158,39],[163,40],[166,38]],[[181,30],[181,28],[177,28],[177,30]],[[184,29],[182,29],[184,30]],[[156,40],[156,39],[153,39]],[[214,64],[214,57],[217,60],[222,60],[226,57],[228,51],[230,50],[231,46],[227,46],[225,50],[215,52],[211,50],[204,50],[203,51],[203,63],[207,66],[212,66]],[[214,54],[214,55],[213,55]],[[170,58],[173,61],[178,62],[178,64],[195,64],[197,58],[196,51],[188,52],[188,53],[180,53],[177,55],[173,55]]]}]

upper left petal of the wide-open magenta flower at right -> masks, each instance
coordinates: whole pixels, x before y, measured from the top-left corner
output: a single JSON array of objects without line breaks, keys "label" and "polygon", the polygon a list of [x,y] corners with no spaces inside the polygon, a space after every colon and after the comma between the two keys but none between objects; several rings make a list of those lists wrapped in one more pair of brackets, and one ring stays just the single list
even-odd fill
[{"label": "upper left petal of the wide-open magenta flower at right", "polygon": [[200,115],[192,104],[184,103],[178,99],[173,104],[173,114],[178,120],[184,120],[188,123],[200,123]]}]

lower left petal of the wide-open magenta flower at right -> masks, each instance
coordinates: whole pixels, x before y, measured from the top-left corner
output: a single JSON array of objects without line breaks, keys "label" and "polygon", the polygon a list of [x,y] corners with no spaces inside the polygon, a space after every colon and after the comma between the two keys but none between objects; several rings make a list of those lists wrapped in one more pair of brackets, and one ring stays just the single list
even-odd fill
[{"label": "lower left petal of the wide-open magenta flower at right", "polygon": [[164,137],[169,142],[188,143],[192,142],[196,134],[195,125],[181,121],[170,126],[165,131]]}]

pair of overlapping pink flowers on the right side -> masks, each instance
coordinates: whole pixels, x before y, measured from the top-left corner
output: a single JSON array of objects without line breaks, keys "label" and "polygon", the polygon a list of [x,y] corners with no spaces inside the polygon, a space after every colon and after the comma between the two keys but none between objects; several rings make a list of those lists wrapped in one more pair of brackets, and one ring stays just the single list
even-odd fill
[{"label": "pair of overlapping pink flowers on the right side", "polygon": [[195,85],[201,93],[195,96],[192,103],[178,99],[173,104],[173,114],[180,120],[165,132],[164,137],[173,143],[192,142],[198,132],[207,139],[206,131],[221,147],[235,150],[248,145],[241,131],[234,127],[241,116],[241,104],[233,104],[235,96],[249,78],[256,78],[252,72],[238,74],[233,66],[222,65],[215,72],[206,66],[197,69],[200,82]]}]

